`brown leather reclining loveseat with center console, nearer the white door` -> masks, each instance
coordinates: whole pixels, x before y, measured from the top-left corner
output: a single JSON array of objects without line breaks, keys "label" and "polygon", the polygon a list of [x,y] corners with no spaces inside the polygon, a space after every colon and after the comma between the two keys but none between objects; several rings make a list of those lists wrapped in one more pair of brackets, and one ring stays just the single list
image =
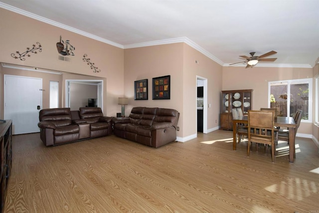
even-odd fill
[{"label": "brown leather reclining loveseat with center console, nearer the white door", "polygon": [[[94,108],[94,109],[93,109]],[[112,134],[110,117],[104,117],[101,108],[84,107],[42,109],[39,112],[40,138],[44,145],[60,145]]]}]

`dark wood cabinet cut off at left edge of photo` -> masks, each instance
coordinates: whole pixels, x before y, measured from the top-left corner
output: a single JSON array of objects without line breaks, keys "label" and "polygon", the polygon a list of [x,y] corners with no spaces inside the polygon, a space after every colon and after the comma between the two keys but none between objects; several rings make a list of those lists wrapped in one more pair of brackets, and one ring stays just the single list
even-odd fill
[{"label": "dark wood cabinet cut off at left edge of photo", "polygon": [[12,121],[0,122],[1,176],[0,176],[0,212],[3,211],[6,187],[12,163]]}]

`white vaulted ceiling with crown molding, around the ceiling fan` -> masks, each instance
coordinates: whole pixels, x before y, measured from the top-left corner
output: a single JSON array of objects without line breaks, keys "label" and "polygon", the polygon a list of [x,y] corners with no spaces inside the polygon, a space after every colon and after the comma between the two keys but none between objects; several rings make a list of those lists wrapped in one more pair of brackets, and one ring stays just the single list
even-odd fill
[{"label": "white vaulted ceiling with crown molding, around the ceiling fan", "polygon": [[319,57],[319,0],[0,0],[0,7],[121,48],[183,41],[224,66],[252,51],[278,52],[257,66],[313,67]]}]

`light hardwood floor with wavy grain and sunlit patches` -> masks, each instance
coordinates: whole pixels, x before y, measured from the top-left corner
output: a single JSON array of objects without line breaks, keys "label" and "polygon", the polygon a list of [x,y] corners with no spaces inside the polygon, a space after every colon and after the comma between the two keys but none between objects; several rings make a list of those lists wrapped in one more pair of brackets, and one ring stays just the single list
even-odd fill
[{"label": "light hardwood floor with wavy grain and sunlit patches", "polygon": [[294,164],[255,147],[247,158],[246,142],[233,151],[223,130],[157,149],[113,135],[45,147],[35,133],[12,143],[4,213],[319,213],[311,139],[296,139]]}]

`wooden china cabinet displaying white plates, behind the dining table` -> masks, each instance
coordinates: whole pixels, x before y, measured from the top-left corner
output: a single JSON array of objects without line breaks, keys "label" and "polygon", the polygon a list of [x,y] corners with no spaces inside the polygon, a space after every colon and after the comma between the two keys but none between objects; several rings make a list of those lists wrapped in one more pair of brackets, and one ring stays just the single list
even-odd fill
[{"label": "wooden china cabinet displaying white plates, behind the dining table", "polygon": [[241,109],[243,115],[252,109],[252,89],[221,91],[220,129],[232,130],[232,110]]}]

